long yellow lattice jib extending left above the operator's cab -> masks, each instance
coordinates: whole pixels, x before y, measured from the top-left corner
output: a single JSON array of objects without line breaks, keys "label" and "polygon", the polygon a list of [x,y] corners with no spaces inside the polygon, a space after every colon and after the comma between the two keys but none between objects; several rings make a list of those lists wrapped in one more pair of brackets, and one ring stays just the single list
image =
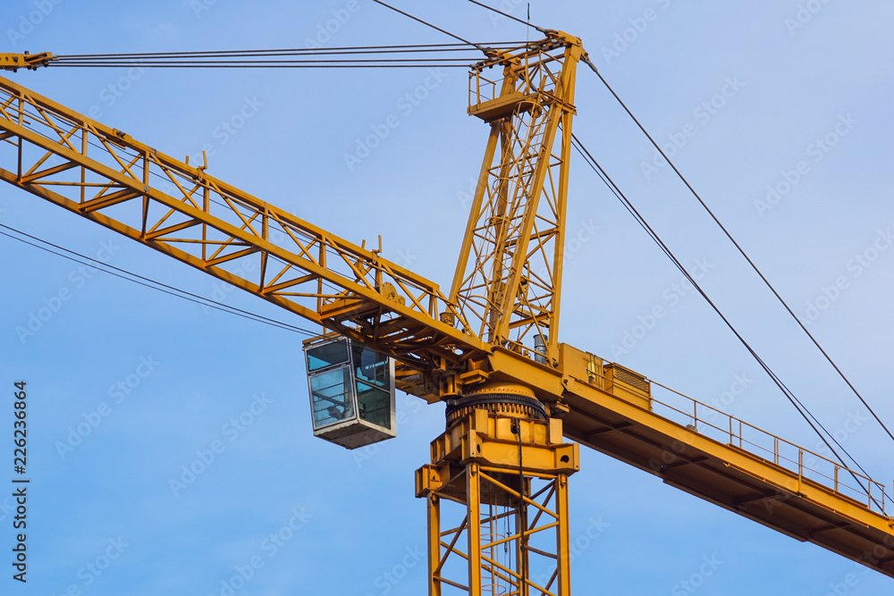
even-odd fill
[{"label": "long yellow lattice jib extending left above the operator's cab", "polygon": [[[434,282],[2,78],[0,131],[16,153],[0,180],[315,323],[423,368],[488,351],[463,332],[468,325],[441,322],[452,307]],[[139,209],[130,216],[114,211],[131,203]],[[183,236],[171,238],[175,231]],[[246,259],[254,266],[240,268]],[[386,288],[405,299],[387,296]],[[365,312],[373,315],[323,315],[326,305],[347,298],[375,306]],[[375,336],[395,319],[412,333],[392,342]]]}]

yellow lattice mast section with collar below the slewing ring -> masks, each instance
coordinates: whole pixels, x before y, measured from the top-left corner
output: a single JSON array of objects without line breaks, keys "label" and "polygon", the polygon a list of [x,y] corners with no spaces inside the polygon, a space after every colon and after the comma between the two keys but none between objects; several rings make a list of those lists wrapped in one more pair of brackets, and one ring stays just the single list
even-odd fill
[{"label": "yellow lattice mast section with collar below the slewing ring", "polygon": [[432,463],[416,473],[429,594],[569,596],[568,477],[579,462],[578,445],[561,441],[561,420],[479,408],[432,442]]}]

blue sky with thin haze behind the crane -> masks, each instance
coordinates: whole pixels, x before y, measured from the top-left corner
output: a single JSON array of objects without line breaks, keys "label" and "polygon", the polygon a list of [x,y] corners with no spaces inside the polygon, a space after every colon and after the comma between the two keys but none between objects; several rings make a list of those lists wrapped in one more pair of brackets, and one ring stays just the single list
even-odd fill
[{"label": "blue sky with thin haze behind the crane", "polygon": [[[502,7],[523,17],[526,4]],[[894,227],[894,7],[832,0],[607,4],[536,0],[531,16],[582,38],[654,137],[662,145],[676,139],[681,171],[876,412],[894,421],[894,248],[871,250],[884,246]],[[2,51],[306,46],[340,15],[331,38],[318,42],[450,41],[368,0],[4,5]],[[519,23],[493,20],[459,0],[400,5],[464,38],[527,36]],[[412,109],[401,105],[430,76],[414,69],[10,74],[169,155],[198,155],[210,145],[211,174],[342,238],[382,234],[385,256],[449,286],[467,217],[463,196],[486,130],[466,115],[461,69],[437,73]],[[580,139],[680,260],[704,265],[705,289],[780,377],[830,430],[845,432],[847,449],[890,487],[890,438],[864,421],[864,408],[669,168],[650,167],[654,150],[584,69],[577,104]],[[224,134],[222,123],[243,110],[250,118]],[[398,126],[349,167],[345,155],[358,139],[392,115]],[[0,222],[301,324],[27,193],[0,189]],[[724,403],[725,411],[816,446],[704,301],[674,289],[679,272],[579,160],[568,233],[578,242],[567,247],[562,341],[708,403],[744,377],[746,390]],[[250,575],[233,591],[240,595],[425,592],[425,503],[413,497],[413,471],[443,430],[443,407],[399,395],[397,439],[360,452],[338,448],[312,436],[298,334],[85,273],[12,239],[0,238],[0,251],[0,382],[7,394],[14,381],[29,383],[32,477],[29,583],[14,583],[4,563],[0,592],[205,596],[227,593],[224,584],[240,569]],[[72,298],[21,339],[16,329],[60,290]],[[667,315],[624,348],[625,334],[654,306]],[[11,421],[7,410],[0,416]],[[848,424],[855,419],[856,428]],[[89,432],[70,441],[84,424]],[[12,423],[4,428],[11,457]],[[78,444],[60,449],[66,441]],[[183,467],[202,457],[205,469],[187,482]],[[182,486],[172,488],[172,480]],[[0,505],[5,550],[13,530],[3,498]],[[894,585],[586,449],[570,506],[571,536],[581,545],[572,564],[578,594],[825,596],[842,585],[848,594],[888,593]],[[710,575],[690,590],[684,582],[704,568]]]}]

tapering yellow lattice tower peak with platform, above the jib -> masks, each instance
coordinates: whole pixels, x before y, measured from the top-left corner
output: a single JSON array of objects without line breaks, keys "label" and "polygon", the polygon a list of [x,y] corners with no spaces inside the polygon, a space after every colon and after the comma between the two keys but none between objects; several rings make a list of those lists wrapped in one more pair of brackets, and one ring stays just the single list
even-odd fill
[{"label": "tapering yellow lattice tower peak with platform, above the jib", "polygon": [[[555,365],[578,38],[550,32],[472,67],[468,113],[490,125],[451,303],[473,335]],[[502,71],[493,73],[493,68]]]}]

